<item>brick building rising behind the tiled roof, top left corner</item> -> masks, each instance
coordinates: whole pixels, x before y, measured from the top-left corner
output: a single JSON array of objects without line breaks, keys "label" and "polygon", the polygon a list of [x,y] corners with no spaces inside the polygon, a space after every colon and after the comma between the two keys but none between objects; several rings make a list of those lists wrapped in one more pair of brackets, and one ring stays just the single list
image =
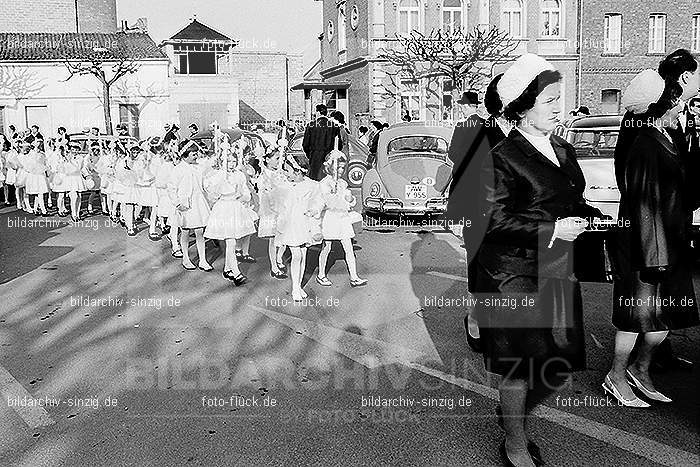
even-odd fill
[{"label": "brick building rising behind the tiled roof, top left corner", "polygon": [[114,0],[0,0],[3,32],[117,32]]}]

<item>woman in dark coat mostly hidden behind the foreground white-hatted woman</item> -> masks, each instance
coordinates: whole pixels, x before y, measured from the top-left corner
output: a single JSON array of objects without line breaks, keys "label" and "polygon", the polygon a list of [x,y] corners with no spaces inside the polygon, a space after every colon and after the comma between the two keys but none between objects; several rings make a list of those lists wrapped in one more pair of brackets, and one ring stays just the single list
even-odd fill
[{"label": "woman in dark coat mostly hidden behind the foreground white-hatted woman", "polygon": [[[484,239],[486,217],[483,212],[483,184],[481,171],[485,164],[490,167],[489,152],[506,137],[512,127],[502,115],[503,103],[498,97],[498,82],[503,74],[496,76],[486,88],[484,106],[489,118],[484,120],[477,114],[458,122],[450,141],[449,157],[452,161],[452,181],[446,219],[459,230],[467,254],[467,288],[474,293],[476,283],[476,253]],[[488,169],[487,169],[488,170]],[[488,170],[487,173],[492,173]],[[479,323],[474,313],[467,311],[464,318],[467,343],[474,352],[481,352]]]}]

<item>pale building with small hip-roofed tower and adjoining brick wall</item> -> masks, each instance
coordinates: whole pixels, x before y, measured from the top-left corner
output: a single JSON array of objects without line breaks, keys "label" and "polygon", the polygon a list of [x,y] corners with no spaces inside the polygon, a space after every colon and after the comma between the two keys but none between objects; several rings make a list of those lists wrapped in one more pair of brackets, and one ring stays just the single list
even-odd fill
[{"label": "pale building with small hip-roofed tower and adjoining brick wall", "polygon": [[174,121],[251,126],[303,114],[303,97],[290,90],[301,79],[302,56],[237,46],[196,18],[161,43],[171,62]]}]

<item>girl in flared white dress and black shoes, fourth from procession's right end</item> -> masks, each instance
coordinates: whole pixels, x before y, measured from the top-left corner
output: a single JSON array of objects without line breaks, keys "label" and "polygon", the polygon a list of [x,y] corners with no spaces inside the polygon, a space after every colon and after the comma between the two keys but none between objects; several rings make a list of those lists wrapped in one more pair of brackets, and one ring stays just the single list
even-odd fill
[{"label": "girl in flared white dress and black shoes, fourth from procession's right end", "polygon": [[228,143],[224,143],[224,167],[215,170],[205,182],[209,199],[214,206],[207,221],[204,238],[224,240],[226,243],[226,260],[224,277],[233,281],[236,286],[243,285],[247,277],[238,267],[236,258],[236,243],[242,238],[255,232],[255,221],[258,215],[248,203],[251,194],[248,181],[241,165],[229,152]]}]

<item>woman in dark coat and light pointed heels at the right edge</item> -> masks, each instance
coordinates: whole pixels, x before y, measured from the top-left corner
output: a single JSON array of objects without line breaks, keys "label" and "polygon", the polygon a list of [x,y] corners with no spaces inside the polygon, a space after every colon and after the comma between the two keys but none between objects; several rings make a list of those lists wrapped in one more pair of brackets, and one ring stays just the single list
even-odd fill
[{"label": "woman in dark coat and light pointed heels at the right edge", "polygon": [[[683,89],[650,71],[648,80],[635,79],[626,91],[649,95],[656,89],[660,97],[649,105],[647,123],[621,165],[619,218],[627,228],[616,245],[612,321],[618,332],[613,366],[603,382],[607,392],[631,407],[649,407],[631,386],[647,399],[671,402],[649,377],[652,353],[669,330],[698,324],[689,236],[694,205],[684,188],[691,175],[669,134],[678,125]],[[638,353],[629,362],[638,334]]]}]

